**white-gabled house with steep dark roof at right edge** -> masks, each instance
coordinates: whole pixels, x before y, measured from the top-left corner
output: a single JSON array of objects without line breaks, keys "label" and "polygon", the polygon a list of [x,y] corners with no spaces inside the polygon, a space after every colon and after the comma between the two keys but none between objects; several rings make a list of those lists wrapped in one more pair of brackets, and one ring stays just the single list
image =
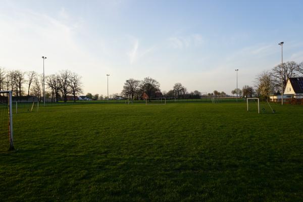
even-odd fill
[{"label": "white-gabled house with steep dark roof at right edge", "polygon": [[284,95],[287,98],[303,98],[303,77],[288,78]]}]

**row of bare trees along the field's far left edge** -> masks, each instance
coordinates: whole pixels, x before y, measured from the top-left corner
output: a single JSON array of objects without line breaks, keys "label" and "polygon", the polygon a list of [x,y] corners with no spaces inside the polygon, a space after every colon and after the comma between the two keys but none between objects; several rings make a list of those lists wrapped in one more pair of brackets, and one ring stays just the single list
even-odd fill
[{"label": "row of bare trees along the field's far left edge", "polygon": [[[81,76],[69,70],[45,76],[45,98],[52,102],[64,100],[72,94],[74,102],[76,95],[82,93]],[[43,97],[43,75],[35,71],[6,70],[0,67],[0,90],[12,90],[14,96],[36,96],[41,101]]]}]

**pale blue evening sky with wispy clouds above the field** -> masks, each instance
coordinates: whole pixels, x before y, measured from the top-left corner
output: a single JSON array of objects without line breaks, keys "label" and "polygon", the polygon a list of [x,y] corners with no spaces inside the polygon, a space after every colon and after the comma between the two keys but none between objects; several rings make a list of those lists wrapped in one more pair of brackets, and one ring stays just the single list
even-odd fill
[{"label": "pale blue evening sky with wispy clouds above the field", "polygon": [[151,77],[168,91],[255,85],[283,60],[303,61],[303,1],[0,0],[0,66],[82,76],[83,94],[121,93]]}]

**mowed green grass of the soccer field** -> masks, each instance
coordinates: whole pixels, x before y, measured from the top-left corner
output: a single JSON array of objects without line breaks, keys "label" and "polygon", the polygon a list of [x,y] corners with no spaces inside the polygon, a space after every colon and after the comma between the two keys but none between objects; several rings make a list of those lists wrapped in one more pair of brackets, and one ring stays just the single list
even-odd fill
[{"label": "mowed green grass of the soccer field", "polygon": [[302,201],[303,106],[92,104],[14,114],[0,201]]}]

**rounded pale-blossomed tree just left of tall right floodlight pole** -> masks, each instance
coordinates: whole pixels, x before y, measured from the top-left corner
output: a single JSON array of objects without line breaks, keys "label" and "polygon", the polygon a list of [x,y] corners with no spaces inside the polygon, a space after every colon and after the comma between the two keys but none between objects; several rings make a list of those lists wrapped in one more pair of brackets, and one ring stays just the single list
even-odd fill
[{"label": "rounded pale-blossomed tree just left of tall right floodlight pole", "polygon": [[264,71],[257,76],[258,92],[264,98],[269,97],[274,92],[273,73]]}]

